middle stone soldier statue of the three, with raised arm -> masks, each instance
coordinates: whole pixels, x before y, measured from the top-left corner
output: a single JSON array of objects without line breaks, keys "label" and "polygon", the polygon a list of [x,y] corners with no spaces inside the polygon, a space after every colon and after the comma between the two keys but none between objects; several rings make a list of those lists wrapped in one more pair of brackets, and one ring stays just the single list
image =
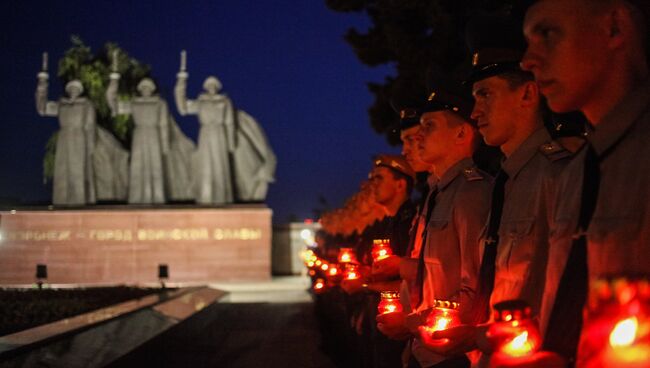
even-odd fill
[{"label": "middle stone soldier statue of the three, with raised arm", "polygon": [[[113,60],[117,60],[115,55]],[[188,152],[194,148],[193,144],[176,126],[165,100],[154,94],[156,85],[150,78],[144,78],[138,83],[140,96],[118,101],[120,74],[115,64],[114,61],[106,100],[113,115],[131,114],[135,123],[131,142],[128,202],[162,204],[167,198],[191,199],[192,195],[186,189],[191,183],[187,158]],[[170,146],[174,143],[176,145],[173,148],[176,150],[170,152]]]}]

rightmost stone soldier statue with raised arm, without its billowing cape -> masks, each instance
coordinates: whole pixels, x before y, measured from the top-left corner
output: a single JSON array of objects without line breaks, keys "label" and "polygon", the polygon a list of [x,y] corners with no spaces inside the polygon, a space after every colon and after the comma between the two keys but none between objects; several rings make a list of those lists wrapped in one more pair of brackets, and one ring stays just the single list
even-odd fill
[{"label": "rightmost stone soldier statue with raised arm, without its billowing cape", "polygon": [[205,79],[196,100],[186,97],[186,53],[181,52],[181,67],[174,89],[176,107],[181,115],[198,115],[201,124],[198,149],[194,157],[195,200],[199,204],[224,204],[234,201],[229,153],[235,150],[234,109],[230,99],[220,94],[216,77]]}]

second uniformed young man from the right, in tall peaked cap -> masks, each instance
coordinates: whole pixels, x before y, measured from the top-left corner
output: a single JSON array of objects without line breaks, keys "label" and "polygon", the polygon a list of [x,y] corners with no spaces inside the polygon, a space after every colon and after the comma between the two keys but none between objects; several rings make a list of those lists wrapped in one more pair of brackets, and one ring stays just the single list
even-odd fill
[{"label": "second uniformed young man from the right, in tall peaked cap", "polygon": [[[502,17],[483,17],[468,27],[473,53],[472,118],[485,142],[505,160],[495,178],[490,218],[482,236],[483,258],[473,323],[488,320],[490,306],[523,300],[540,311],[548,257],[554,178],[571,154],[552,141],[542,118],[543,101],[534,77],[519,63],[525,42],[519,27]],[[459,334],[464,331],[464,334]],[[440,352],[472,349],[483,327],[441,331],[449,343]],[[449,337],[447,337],[449,335]],[[482,347],[481,365],[490,357]]]}]

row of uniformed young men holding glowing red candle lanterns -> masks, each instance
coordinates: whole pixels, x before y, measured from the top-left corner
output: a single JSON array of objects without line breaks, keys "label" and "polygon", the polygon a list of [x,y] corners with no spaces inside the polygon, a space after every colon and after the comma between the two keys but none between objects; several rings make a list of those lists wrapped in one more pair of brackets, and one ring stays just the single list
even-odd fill
[{"label": "row of uniformed young men holding glowing red candle lanterns", "polygon": [[[399,366],[385,336],[406,343],[408,367],[650,365],[649,14],[642,1],[538,0],[527,45],[509,19],[472,23],[473,100],[438,83],[403,109],[412,168],[378,160],[371,175],[387,217],[379,231],[329,239],[356,241],[360,265],[348,268],[362,277],[311,264],[319,308],[352,319],[341,336],[363,337],[340,339],[357,347],[355,364]],[[554,140],[547,107],[580,111],[584,134]],[[494,177],[472,161],[480,140],[504,155]],[[429,173],[429,190],[404,243],[377,173],[409,188],[415,175],[396,173],[414,168]],[[373,257],[382,239],[392,255]],[[332,252],[314,257],[342,271]]]}]

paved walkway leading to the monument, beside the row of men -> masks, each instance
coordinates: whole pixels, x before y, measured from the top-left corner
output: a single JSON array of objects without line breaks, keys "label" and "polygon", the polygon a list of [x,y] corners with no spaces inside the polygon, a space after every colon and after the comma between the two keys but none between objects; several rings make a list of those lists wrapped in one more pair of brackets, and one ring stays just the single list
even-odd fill
[{"label": "paved walkway leading to the monument, beside the row of men", "polygon": [[215,284],[231,294],[110,367],[334,367],[320,351],[305,278]]}]

